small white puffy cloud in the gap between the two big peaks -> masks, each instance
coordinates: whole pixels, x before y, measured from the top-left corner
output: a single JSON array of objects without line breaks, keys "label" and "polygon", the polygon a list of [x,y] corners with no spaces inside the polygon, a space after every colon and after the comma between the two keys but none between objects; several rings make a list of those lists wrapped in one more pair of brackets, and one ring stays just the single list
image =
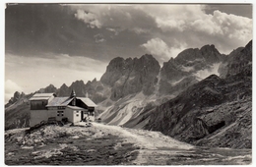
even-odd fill
[{"label": "small white puffy cloud in the gap between the two big peaks", "polygon": [[160,63],[163,61],[168,61],[171,57],[176,57],[185,47],[182,45],[176,45],[169,47],[163,40],[160,38],[152,38],[141,45],[151,54],[156,55],[160,59]]}]

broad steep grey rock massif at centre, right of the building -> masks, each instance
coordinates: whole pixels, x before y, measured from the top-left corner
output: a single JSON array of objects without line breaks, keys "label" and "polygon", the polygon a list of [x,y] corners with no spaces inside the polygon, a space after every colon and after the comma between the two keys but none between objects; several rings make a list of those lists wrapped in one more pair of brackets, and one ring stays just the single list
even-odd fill
[{"label": "broad steep grey rock massif at centre, right of the building", "polygon": [[126,60],[118,57],[110,61],[100,82],[112,87],[112,100],[140,91],[150,95],[158,83],[159,72],[160,64],[152,55]]}]

